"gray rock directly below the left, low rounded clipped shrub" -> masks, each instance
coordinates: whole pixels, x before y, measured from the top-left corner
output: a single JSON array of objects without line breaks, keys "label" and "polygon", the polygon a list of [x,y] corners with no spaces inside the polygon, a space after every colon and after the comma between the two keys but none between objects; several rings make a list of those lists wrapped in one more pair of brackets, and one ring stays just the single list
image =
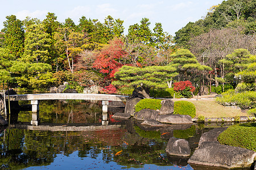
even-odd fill
[{"label": "gray rock directly below the left, low rounded clipped shrub", "polygon": [[158,112],[152,109],[142,109],[139,112],[134,113],[134,118],[137,120],[156,120],[158,117]]}]

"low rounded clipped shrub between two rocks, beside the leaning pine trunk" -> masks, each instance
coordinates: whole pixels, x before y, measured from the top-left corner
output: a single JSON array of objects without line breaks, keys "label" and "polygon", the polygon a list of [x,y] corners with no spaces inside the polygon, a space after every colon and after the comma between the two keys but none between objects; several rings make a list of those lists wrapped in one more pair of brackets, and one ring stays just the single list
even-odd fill
[{"label": "low rounded clipped shrub between two rocks, beside the leaning pine trunk", "polygon": [[142,109],[160,110],[162,107],[161,101],[160,99],[142,99],[135,105],[135,111],[139,112]]}]

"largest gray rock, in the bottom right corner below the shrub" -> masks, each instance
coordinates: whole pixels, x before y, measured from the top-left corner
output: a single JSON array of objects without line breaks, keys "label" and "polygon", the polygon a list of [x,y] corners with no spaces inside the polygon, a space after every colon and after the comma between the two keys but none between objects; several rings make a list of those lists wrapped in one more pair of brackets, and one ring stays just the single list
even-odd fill
[{"label": "largest gray rock, in the bottom right corner below the shrub", "polygon": [[256,152],[241,147],[220,145],[218,142],[203,142],[195,150],[188,163],[222,168],[251,167],[256,158]]}]

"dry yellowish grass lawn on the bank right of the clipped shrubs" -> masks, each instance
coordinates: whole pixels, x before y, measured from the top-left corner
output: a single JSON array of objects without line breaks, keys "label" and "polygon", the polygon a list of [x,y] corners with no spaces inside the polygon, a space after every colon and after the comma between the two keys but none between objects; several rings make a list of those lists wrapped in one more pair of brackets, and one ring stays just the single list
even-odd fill
[{"label": "dry yellowish grass lawn on the bank right of the clipped shrubs", "polygon": [[[174,101],[177,101],[174,99]],[[241,109],[233,109],[218,104],[215,100],[187,100],[196,106],[196,117],[203,115],[204,117],[235,117],[250,116],[242,113]]]}]

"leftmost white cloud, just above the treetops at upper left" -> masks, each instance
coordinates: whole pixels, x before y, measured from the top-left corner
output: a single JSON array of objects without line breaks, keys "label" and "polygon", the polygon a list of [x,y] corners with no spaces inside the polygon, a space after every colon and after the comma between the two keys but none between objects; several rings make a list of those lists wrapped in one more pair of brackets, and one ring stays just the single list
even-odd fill
[{"label": "leftmost white cloud, just above the treetops at upper left", "polygon": [[30,16],[31,18],[38,18],[41,20],[46,17],[47,13],[48,13],[47,10],[36,10],[34,12],[30,12],[28,10],[22,10],[17,12],[15,15],[20,20],[26,19],[26,16]]}]

